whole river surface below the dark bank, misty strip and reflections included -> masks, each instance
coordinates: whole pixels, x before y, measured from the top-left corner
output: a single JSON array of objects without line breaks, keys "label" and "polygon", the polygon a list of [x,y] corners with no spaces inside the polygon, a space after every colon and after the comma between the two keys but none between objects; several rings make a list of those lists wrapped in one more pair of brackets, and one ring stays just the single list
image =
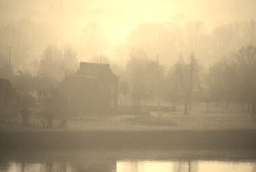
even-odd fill
[{"label": "whole river surface below the dark bank, misty strip and reflections included", "polygon": [[13,151],[0,155],[0,171],[256,172],[255,159],[222,156],[179,151]]}]

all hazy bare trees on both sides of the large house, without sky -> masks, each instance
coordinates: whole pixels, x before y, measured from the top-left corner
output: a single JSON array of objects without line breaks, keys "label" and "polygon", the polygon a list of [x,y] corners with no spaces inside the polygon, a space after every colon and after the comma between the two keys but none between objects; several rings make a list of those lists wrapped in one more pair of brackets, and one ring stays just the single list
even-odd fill
[{"label": "all hazy bare trees on both sides of the large house, without sky", "polygon": [[[53,45],[45,46],[40,57],[29,54],[28,45],[32,42],[25,34],[27,25],[31,31],[39,32],[33,29],[34,23],[27,21],[0,27],[3,35],[0,77],[12,82],[23,110],[29,109],[30,113],[46,118],[48,122],[43,126],[51,127],[58,115],[65,125],[69,114],[63,109],[70,95],[58,92],[57,86],[76,71],[76,50],[70,45]],[[85,32],[98,30],[96,24],[88,27]],[[34,34],[40,35],[38,32]],[[119,104],[131,107],[135,116],[147,113],[151,100],[158,107],[162,100],[170,101],[172,107],[182,103],[185,114],[195,102],[205,102],[205,111],[210,111],[212,102],[216,105],[225,102],[226,108],[229,103],[240,103],[242,109],[247,105],[250,111],[256,82],[255,35],[254,20],[222,25],[210,33],[204,31],[201,22],[187,23],[184,27],[141,24],[128,37],[130,49],[125,65],[99,52],[91,61],[111,63],[111,69],[119,77]],[[88,37],[88,40],[99,39]],[[31,49],[36,47],[33,46]],[[173,56],[158,56],[167,51]],[[210,65],[201,61],[212,62],[214,57],[215,62]]]}]

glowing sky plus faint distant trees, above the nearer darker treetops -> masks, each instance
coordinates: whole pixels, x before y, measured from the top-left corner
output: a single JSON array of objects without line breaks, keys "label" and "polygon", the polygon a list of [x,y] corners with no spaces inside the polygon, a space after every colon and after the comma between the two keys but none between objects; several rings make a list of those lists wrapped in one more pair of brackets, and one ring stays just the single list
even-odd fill
[{"label": "glowing sky plus faint distant trees, above the nearer darker treetops", "polygon": [[[1,59],[14,70],[40,60],[49,45],[71,45],[79,61],[106,55],[125,65],[130,49],[173,64],[193,52],[203,65],[255,44],[251,1],[4,1]],[[3,61],[3,60],[1,60]]]}]

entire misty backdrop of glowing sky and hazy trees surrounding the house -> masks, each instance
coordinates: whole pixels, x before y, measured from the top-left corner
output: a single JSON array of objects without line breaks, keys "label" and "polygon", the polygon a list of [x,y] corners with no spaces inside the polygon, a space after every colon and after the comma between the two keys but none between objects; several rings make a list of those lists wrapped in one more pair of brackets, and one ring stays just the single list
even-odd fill
[{"label": "entire misty backdrop of glowing sky and hazy trees surrounding the house", "polygon": [[207,112],[211,102],[253,111],[255,6],[253,0],[1,1],[0,77],[35,114],[56,114],[61,100],[46,89],[81,61],[111,64],[119,105],[131,105],[135,116],[152,100],[171,101],[173,110],[180,103],[184,114],[193,101],[206,103]]}]

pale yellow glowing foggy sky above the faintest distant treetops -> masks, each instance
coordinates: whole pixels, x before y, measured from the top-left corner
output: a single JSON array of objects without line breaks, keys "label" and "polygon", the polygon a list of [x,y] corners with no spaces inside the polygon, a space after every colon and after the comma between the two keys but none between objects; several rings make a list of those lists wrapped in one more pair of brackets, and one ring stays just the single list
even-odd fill
[{"label": "pale yellow glowing foggy sky above the faintest distant treetops", "polygon": [[[107,41],[104,54],[113,55],[130,32],[143,22],[202,21],[207,31],[220,24],[252,20],[256,16],[254,0],[158,0],[158,1],[94,1],[94,0],[1,0],[0,23],[29,20],[47,24],[57,34],[52,44],[76,44],[88,22],[96,22]],[[78,51],[83,59],[86,54]]]}]

